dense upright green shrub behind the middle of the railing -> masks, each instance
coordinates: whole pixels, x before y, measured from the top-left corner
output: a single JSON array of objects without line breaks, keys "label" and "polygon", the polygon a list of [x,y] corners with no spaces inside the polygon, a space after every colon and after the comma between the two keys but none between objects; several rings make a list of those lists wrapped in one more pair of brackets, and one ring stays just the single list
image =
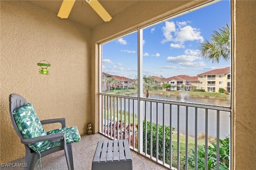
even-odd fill
[{"label": "dense upright green shrub behind the middle of the railing", "polygon": [[[147,154],[156,157],[156,123],[152,123],[152,147],[150,147],[150,121],[147,121]],[[174,127],[172,127],[172,131]],[[145,121],[143,121],[143,132],[145,132]],[[145,133],[143,133],[143,151],[145,150]],[[163,160],[163,126],[158,125],[158,159]],[[170,126],[165,126],[165,162],[170,163]]]}]

